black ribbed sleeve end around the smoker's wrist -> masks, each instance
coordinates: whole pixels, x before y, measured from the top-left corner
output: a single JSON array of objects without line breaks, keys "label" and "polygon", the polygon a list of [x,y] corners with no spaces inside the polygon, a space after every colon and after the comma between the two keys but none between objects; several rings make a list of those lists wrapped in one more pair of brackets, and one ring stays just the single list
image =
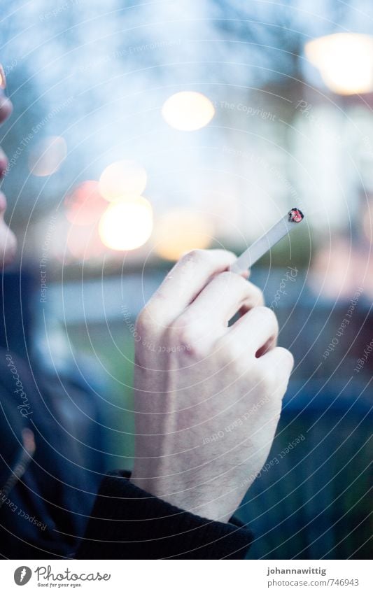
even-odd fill
[{"label": "black ribbed sleeve end around the smoker's wrist", "polygon": [[115,471],[101,483],[78,559],[242,559],[253,535],[232,518],[215,522],[178,509]]}]

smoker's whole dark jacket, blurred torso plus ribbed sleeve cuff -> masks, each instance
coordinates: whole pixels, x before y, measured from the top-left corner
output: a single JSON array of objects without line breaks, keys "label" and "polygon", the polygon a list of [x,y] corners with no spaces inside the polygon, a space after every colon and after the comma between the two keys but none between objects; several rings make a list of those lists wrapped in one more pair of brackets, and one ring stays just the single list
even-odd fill
[{"label": "smoker's whole dark jacket, blurred torso plus ribbed sleeve cuff", "polygon": [[92,400],[81,390],[69,385],[66,393],[57,378],[35,376],[0,351],[3,558],[245,556],[252,535],[237,521],[213,522],[173,507],[134,486],[125,471],[108,474],[95,497],[92,418]]}]

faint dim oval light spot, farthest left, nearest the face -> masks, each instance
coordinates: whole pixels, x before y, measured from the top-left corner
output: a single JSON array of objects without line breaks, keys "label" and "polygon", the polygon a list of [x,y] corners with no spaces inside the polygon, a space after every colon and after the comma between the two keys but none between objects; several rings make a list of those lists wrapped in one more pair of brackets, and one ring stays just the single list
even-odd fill
[{"label": "faint dim oval light spot, farthest left, nearest the face", "polygon": [[33,176],[44,177],[55,173],[66,158],[66,141],[62,136],[48,136],[31,150],[29,170]]}]

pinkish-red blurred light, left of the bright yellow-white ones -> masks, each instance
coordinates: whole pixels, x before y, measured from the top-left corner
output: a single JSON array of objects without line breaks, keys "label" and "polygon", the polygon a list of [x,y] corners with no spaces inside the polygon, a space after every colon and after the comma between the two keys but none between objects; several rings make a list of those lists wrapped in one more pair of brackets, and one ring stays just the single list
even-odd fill
[{"label": "pinkish-red blurred light, left of the bright yellow-white ones", "polygon": [[70,192],[64,201],[67,220],[74,225],[93,225],[99,222],[107,202],[99,192],[98,181],[87,180]]}]

